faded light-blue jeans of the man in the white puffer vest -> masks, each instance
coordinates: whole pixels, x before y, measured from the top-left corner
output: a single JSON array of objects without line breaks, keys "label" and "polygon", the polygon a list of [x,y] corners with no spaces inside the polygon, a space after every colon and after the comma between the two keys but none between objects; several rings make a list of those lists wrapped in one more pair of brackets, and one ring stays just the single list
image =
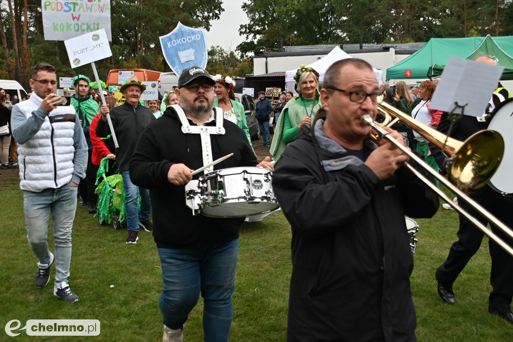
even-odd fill
[{"label": "faded light-blue jeans of the man in the white puffer vest", "polygon": [[23,212],[29,246],[40,264],[50,263],[48,223],[53,219],[55,287],[68,282],[71,264],[71,230],[76,212],[77,186],[69,184],[41,192],[23,191]]}]

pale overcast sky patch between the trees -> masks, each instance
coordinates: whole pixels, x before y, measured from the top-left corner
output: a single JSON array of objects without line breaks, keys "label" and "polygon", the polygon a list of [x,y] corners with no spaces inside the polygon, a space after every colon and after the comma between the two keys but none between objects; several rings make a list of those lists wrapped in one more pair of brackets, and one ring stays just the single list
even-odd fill
[{"label": "pale overcast sky patch between the trees", "polygon": [[225,50],[235,50],[237,45],[244,42],[244,36],[239,34],[241,24],[247,24],[249,19],[242,10],[243,0],[223,0],[224,12],[219,20],[211,22],[210,31],[206,31],[207,48],[221,46]]}]

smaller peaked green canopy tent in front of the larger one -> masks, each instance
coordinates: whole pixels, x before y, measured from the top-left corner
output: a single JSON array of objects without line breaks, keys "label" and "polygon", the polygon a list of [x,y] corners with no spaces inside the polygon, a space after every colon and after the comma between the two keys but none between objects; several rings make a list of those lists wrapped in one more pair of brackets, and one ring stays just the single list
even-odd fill
[{"label": "smaller peaked green canopy tent in front of the larger one", "polygon": [[[477,49],[465,57],[465,59],[474,59],[480,55],[490,56],[496,60],[498,65],[504,67],[501,79],[513,79],[513,57],[504,52],[490,35],[487,35]],[[427,77],[438,77],[442,74],[443,70],[444,66],[433,64],[428,69]]]}]

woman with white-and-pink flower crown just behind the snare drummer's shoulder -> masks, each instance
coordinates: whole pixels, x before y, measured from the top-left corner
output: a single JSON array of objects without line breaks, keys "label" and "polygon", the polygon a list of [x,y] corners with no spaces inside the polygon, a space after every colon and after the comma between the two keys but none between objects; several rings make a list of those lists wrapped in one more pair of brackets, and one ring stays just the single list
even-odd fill
[{"label": "woman with white-and-pink flower crown just behind the snare drummer's shoulder", "polygon": [[215,81],[214,92],[218,97],[214,100],[214,107],[221,108],[223,110],[224,118],[239,126],[244,133],[246,133],[249,146],[252,147],[253,145],[251,144],[251,137],[249,136],[244,106],[235,101],[235,92],[233,91],[235,81],[233,81],[230,76],[223,77],[220,74],[217,74],[212,78]]}]

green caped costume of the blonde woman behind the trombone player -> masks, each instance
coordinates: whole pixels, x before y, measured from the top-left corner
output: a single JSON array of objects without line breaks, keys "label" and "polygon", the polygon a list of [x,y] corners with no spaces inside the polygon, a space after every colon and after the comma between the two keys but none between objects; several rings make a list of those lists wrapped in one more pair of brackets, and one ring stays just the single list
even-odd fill
[{"label": "green caped costume of the blonde woman behind the trombone player", "polygon": [[[314,106],[309,107],[309,104],[314,104]],[[274,163],[278,163],[287,145],[301,133],[298,125],[303,117],[310,116],[313,122],[313,116],[321,107],[321,101],[318,97],[315,100],[304,100],[298,97],[287,102],[274,127],[274,136],[270,149]]]}]

